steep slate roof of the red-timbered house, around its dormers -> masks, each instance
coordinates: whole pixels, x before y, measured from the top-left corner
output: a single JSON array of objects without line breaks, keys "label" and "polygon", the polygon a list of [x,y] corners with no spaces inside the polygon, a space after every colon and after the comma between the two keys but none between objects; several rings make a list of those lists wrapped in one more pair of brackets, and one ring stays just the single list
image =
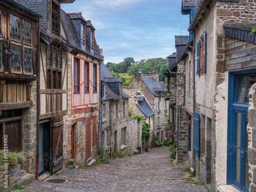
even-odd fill
[{"label": "steep slate roof of the red-timbered house, around its dormers", "polygon": [[75,32],[75,28],[73,26],[71,17],[70,17],[70,15],[68,15],[63,10],[61,10],[61,23],[62,23],[62,26],[63,26],[63,30],[65,32],[65,35],[67,37],[68,43],[72,48],[78,50],[79,52],[86,53],[87,55],[90,55],[93,58],[97,58],[99,60],[102,60],[102,58],[100,57],[99,48],[97,46],[97,42],[96,42],[95,38],[94,38],[94,55],[91,54],[88,46],[86,46],[86,50],[83,50],[83,49],[80,48],[80,44],[78,42],[76,32]]}]

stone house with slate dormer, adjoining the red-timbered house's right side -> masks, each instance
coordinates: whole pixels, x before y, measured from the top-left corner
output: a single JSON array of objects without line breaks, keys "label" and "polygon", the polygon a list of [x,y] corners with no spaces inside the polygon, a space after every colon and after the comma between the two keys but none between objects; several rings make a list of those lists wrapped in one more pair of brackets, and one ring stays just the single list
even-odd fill
[{"label": "stone house with slate dormer, adjoining the red-timbered house's right side", "polygon": [[100,143],[111,155],[125,155],[141,146],[142,121],[129,118],[129,95],[122,90],[122,81],[113,77],[104,63],[100,64],[101,116]]}]

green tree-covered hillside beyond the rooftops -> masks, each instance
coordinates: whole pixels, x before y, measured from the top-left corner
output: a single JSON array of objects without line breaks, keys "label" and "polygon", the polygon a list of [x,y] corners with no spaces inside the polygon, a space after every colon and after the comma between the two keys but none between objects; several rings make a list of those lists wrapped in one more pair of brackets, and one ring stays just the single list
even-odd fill
[{"label": "green tree-covered hillside beyond the rooftops", "polygon": [[[114,76],[120,76],[123,81],[123,86],[127,86],[130,83],[135,73],[141,71],[152,72],[153,68],[159,73],[159,81],[164,81],[166,83],[166,76],[163,74],[164,71],[168,69],[168,60],[163,58],[147,59],[146,62],[140,62],[135,65],[135,60],[133,57],[127,57],[119,63],[106,63],[106,67]],[[129,76],[119,75],[120,73],[128,73]]]}]

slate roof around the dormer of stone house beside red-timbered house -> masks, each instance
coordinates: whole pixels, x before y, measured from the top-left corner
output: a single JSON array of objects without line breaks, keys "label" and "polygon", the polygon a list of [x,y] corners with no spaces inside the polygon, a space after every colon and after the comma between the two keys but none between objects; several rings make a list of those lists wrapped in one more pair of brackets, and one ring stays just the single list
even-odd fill
[{"label": "slate roof around the dormer of stone house beside red-timbered house", "polygon": [[[105,81],[105,79],[107,81],[109,81],[110,79],[114,79],[114,80],[110,80],[109,83],[111,82],[122,82],[119,77],[113,77],[113,75],[110,73],[110,71],[108,70],[108,68],[105,66],[104,63],[100,64],[100,80],[101,81]],[[105,81],[106,82],[106,81]],[[124,98],[130,98],[129,95],[127,95],[126,93],[122,92],[122,96],[116,94],[114,91],[112,91],[112,89],[108,86],[108,83],[105,84],[105,88],[106,88],[106,98],[104,100],[107,99],[124,99]]]}]

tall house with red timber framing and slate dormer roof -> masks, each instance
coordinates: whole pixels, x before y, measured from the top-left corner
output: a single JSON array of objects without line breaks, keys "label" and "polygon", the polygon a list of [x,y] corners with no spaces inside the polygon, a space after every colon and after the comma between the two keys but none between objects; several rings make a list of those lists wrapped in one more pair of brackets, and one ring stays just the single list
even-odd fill
[{"label": "tall house with red timber framing and slate dormer roof", "polygon": [[[95,28],[81,13],[65,13],[61,21],[71,69],[71,127],[68,132],[68,159],[88,163],[97,155],[99,120],[99,63],[103,60],[97,46]],[[70,137],[71,136],[71,137]]]}]

